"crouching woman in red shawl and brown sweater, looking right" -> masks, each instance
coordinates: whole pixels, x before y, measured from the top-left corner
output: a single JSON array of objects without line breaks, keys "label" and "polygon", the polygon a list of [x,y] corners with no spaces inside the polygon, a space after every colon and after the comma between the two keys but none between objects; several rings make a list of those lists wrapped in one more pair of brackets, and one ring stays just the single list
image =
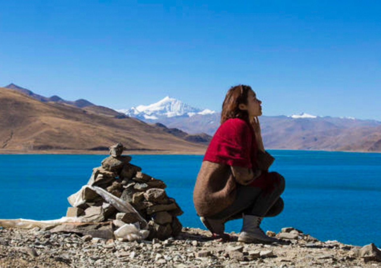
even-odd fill
[{"label": "crouching woman in red shawl and brown sweater, looking right", "polygon": [[274,158],[265,151],[258,116],[261,101],[247,85],[229,89],[221,125],[203,158],[193,191],[200,220],[213,234],[226,238],[224,223],[243,218],[238,241],[272,243],[259,225],[263,217],[283,210],[284,178],[268,172]]}]

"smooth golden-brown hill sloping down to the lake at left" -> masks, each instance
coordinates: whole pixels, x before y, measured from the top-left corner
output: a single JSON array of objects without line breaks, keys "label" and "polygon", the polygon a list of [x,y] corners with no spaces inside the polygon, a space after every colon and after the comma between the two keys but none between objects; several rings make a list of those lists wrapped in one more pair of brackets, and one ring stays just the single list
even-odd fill
[{"label": "smooth golden-brown hill sloping down to the lake at left", "polygon": [[130,117],[41,102],[0,87],[0,153],[102,151],[121,142],[130,151],[203,154],[206,146]]}]

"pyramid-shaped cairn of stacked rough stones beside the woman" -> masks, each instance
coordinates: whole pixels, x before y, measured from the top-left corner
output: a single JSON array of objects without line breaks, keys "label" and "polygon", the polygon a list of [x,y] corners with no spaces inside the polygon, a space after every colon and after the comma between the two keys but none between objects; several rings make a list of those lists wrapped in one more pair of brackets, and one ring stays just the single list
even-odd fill
[{"label": "pyramid-shaped cairn of stacked rough stones beside the woman", "polygon": [[[182,225],[177,216],[183,212],[176,201],[166,195],[165,183],[142,173],[140,167],[130,164],[131,156],[122,155],[122,152],[121,143],[111,146],[110,156],[102,160],[100,167],[93,169],[87,185],[98,186],[128,202],[139,215],[119,212],[91,188],[82,188],[82,202],[69,207],[66,217],[78,217],[88,223],[112,221],[114,231],[126,223],[139,222],[141,228],[149,230],[149,240],[165,240],[179,234]],[[72,205],[75,195],[68,197]]]}]

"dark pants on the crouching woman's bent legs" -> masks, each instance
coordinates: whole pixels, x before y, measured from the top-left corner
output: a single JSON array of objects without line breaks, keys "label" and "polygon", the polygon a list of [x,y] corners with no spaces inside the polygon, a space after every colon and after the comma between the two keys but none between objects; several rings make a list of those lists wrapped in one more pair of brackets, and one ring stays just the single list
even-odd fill
[{"label": "dark pants on the crouching woman's bent legs", "polygon": [[274,217],[283,210],[280,195],[285,189],[285,180],[277,172],[267,176],[269,187],[263,189],[250,185],[237,185],[237,195],[229,207],[213,215],[211,219],[234,220],[242,218],[242,213],[259,217]]}]

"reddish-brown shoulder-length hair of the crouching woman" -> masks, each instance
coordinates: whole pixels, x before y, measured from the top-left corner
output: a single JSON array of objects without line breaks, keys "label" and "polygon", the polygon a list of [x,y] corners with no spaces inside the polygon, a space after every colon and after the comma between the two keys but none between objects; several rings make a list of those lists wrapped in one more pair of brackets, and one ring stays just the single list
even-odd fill
[{"label": "reddish-brown shoulder-length hair of the crouching woman", "polygon": [[239,109],[239,104],[243,103],[247,105],[247,97],[249,90],[252,91],[250,86],[237,85],[231,87],[227,91],[224,103],[222,104],[221,111],[221,124],[229,118],[240,118],[243,120],[249,119],[249,114],[246,110]]}]

